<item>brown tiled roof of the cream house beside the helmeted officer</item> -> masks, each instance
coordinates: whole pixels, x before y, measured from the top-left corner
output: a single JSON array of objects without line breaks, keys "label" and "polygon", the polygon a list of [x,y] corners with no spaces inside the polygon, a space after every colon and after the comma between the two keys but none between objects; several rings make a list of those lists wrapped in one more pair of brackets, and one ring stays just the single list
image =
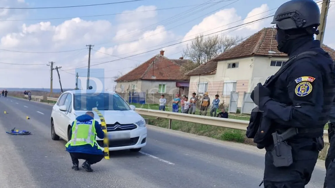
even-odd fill
[{"label": "brown tiled roof of the cream house beside the helmeted officer", "polygon": [[[222,60],[250,57],[254,55],[287,57],[287,54],[279,52],[277,49],[278,43],[275,40],[276,33],[276,29],[263,28],[240,44],[221,53],[209,62],[191,70],[186,75],[215,74],[217,61]],[[322,48],[327,51],[333,59],[335,59],[334,49],[324,44],[322,45]],[[275,53],[269,53],[269,51],[273,51]]]}]

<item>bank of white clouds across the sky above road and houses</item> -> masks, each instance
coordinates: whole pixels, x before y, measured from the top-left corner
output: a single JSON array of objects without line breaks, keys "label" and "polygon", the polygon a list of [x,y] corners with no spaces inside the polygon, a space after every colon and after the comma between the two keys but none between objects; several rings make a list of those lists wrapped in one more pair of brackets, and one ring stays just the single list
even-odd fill
[{"label": "bank of white clouds across the sky above road and houses", "polygon": [[[0,6],[24,7],[27,6],[27,3],[23,0],[1,1]],[[329,10],[328,17],[335,16],[334,7]],[[82,18],[65,20],[59,24],[54,24],[51,21],[33,24],[21,21],[0,22],[0,49],[42,52],[65,51],[85,48],[86,44],[93,44],[95,46],[91,51],[92,72],[94,72],[94,68],[105,68],[105,77],[114,77],[120,73],[127,73],[134,66],[159,53],[160,49],[120,61],[112,61],[101,65],[94,64],[189,40],[199,33],[209,34],[228,29],[259,19],[269,13],[259,14],[269,10],[266,4],[262,4],[247,14],[247,17],[252,17],[239,21],[244,17],[238,14],[237,9],[223,9],[205,17],[190,28],[186,34],[183,34],[177,33],[177,30],[175,32],[169,31],[164,25],[158,24],[157,11],[152,11],[156,9],[156,6],[140,6],[134,10],[127,10],[124,11],[125,14],[116,16],[115,22],[109,20],[89,21]],[[25,10],[0,9],[0,19],[27,19],[28,13]],[[329,20],[328,23],[330,23]],[[267,19],[241,29],[227,30],[218,34],[248,36],[264,26],[270,26],[270,22],[271,20]],[[334,25],[328,23],[326,38],[329,36],[328,33],[331,34],[331,31],[335,29]],[[325,43],[334,47],[334,39],[328,37],[327,40],[329,42]],[[185,44],[164,48],[165,55],[176,58],[180,55],[180,51]],[[61,69],[66,70],[87,66],[87,58],[87,49],[64,53],[17,53],[0,50],[0,75],[7,78],[0,79],[0,85],[1,87],[48,87],[50,84],[50,67],[45,64],[49,61],[55,61],[55,66],[62,66]],[[42,65],[8,65],[1,62]],[[74,87],[75,70],[67,70],[67,72],[70,73],[60,71],[63,87]],[[54,72],[54,87],[58,87],[57,79],[57,74]],[[107,78],[105,84],[108,88],[112,87],[112,78]]]}]

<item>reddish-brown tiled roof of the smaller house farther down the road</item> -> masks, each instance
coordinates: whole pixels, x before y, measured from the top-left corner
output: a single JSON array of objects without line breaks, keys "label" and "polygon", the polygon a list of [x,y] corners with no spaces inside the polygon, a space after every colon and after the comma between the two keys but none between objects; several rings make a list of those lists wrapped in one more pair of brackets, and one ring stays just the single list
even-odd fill
[{"label": "reddish-brown tiled roof of the smaller house farther down the road", "polygon": [[[189,80],[189,78],[180,71],[180,66],[188,61],[190,60],[169,59],[161,54],[158,54],[115,81]],[[154,75],[155,78],[152,78],[152,75]]]}]

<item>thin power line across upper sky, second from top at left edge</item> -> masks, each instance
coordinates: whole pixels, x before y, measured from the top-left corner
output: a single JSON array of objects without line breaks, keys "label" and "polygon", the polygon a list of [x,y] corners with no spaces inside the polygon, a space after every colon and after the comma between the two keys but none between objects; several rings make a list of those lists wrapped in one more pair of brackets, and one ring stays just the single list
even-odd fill
[{"label": "thin power line across upper sky, second from top at left edge", "polygon": [[[224,2],[226,0],[222,1],[216,1],[208,4],[218,3],[218,2]],[[232,1],[232,0],[231,0]],[[171,10],[171,9],[178,9],[178,8],[186,8],[186,7],[193,7],[198,6],[199,4],[195,5],[185,5],[185,6],[177,6],[177,7],[168,7],[168,8],[158,8],[154,10],[142,10],[142,11],[136,11],[136,13],[139,12],[152,12],[152,11],[160,11],[160,10]],[[72,16],[72,17],[57,17],[57,18],[35,18],[35,19],[14,19],[14,20],[0,20],[0,22],[3,21],[40,21],[40,20],[62,20],[62,19],[72,19],[72,18],[90,18],[90,17],[101,17],[101,16],[115,16],[115,15],[122,15],[122,14],[134,14],[134,12],[120,12],[120,13],[113,13],[113,14],[97,14],[97,15],[89,15],[89,16]]]}]

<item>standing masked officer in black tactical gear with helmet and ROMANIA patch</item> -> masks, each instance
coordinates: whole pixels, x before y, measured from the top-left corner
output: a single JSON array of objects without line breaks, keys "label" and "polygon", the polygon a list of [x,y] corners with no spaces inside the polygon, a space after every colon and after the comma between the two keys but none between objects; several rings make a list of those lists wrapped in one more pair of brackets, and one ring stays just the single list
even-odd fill
[{"label": "standing masked officer in black tactical gear with helmet and ROMANIA patch", "polygon": [[314,40],[320,9],[313,0],[285,2],[272,24],[277,48],[289,60],[252,91],[259,111],[252,112],[247,137],[266,149],[265,188],[304,188],[324,147],[323,129],[335,95],[334,63]]}]

